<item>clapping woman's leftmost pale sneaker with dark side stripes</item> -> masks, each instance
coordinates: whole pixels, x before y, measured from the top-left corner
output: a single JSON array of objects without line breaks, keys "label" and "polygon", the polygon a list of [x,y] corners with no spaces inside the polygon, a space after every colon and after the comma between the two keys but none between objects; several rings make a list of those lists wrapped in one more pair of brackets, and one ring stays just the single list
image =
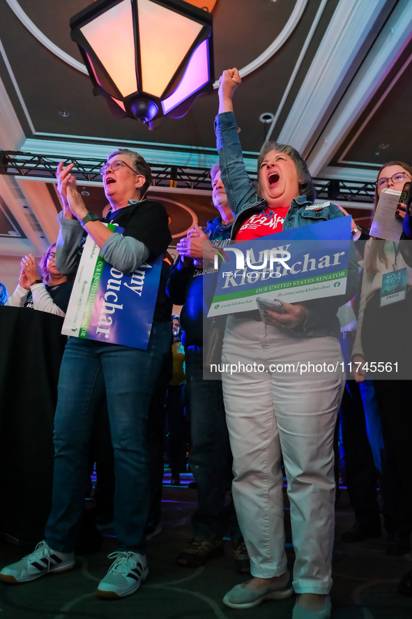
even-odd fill
[{"label": "clapping woman's leftmost pale sneaker with dark side stripes", "polygon": [[45,540],[22,560],[6,565],[0,572],[5,583],[29,583],[49,572],[66,572],[75,567],[75,553],[59,553],[47,546]]}]

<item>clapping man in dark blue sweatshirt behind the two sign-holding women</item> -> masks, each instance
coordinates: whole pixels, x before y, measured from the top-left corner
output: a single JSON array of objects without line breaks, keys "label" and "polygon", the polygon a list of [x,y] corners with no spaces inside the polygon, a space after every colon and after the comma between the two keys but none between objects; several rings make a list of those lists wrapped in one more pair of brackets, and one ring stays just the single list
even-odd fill
[{"label": "clapping man in dark blue sweatshirt behind the two sign-holding women", "polygon": [[[204,326],[207,299],[205,278],[215,281],[213,246],[229,243],[234,216],[220,179],[220,169],[211,169],[213,204],[219,215],[208,221],[207,233],[198,226],[177,245],[179,258],[171,269],[167,292],[181,311],[182,342],[185,345],[187,395],[190,406],[192,448],[189,465],[197,483],[197,509],[192,516],[193,537],[179,553],[178,565],[199,567],[224,553],[222,537],[229,525],[234,540],[235,567],[249,573],[250,562],[238,528],[233,503],[224,507],[231,479],[232,456],[229,447],[221,380],[204,380]],[[209,232],[210,231],[210,232]],[[213,285],[210,286],[212,290]],[[206,295],[207,296],[207,295]]]}]

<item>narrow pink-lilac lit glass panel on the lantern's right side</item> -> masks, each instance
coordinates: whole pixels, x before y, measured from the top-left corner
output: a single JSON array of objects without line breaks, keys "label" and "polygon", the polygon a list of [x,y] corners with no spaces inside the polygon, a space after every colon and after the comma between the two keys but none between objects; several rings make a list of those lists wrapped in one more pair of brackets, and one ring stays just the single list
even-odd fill
[{"label": "narrow pink-lilac lit glass panel on the lantern's right side", "polygon": [[178,87],[172,94],[162,101],[163,113],[167,114],[176,105],[182,103],[194,92],[208,83],[209,77],[208,41],[204,40],[194,50],[185,73]]}]

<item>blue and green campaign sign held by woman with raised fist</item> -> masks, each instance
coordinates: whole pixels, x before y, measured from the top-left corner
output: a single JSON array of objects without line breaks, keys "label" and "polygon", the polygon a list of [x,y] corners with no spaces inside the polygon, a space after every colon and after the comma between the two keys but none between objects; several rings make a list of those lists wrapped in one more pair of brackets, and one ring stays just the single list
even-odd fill
[{"label": "blue and green campaign sign held by woman with raised fist", "polygon": [[350,216],[226,246],[208,316],[344,294],[350,246]]}]

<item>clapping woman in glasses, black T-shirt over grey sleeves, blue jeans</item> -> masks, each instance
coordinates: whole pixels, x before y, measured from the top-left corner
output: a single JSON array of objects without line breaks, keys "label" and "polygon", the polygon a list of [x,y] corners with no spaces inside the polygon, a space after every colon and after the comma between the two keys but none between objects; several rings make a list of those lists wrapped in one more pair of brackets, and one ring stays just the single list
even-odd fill
[{"label": "clapping woman in glasses, black T-shirt over grey sleeves, blue jeans", "polygon": [[[123,234],[109,230],[98,216],[89,213],[74,186],[73,164],[57,169],[63,203],[59,215],[61,232],[56,264],[63,274],[74,274],[79,260],[79,242],[89,234],[100,256],[122,271],[135,272],[144,262],[162,255],[171,240],[168,216],[162,204],[144,200],[151,184],[151,170],[135,151],[114,151],[100,172],[111,205],[106,221],[118,224]],[[49,572],[62,572],[75,565],[74,548],[79,517],[84,504],[89,468],[89,440],[93,415],[104,394],[114,447],[116,490],[114,526],[116,552],[107,575],[100,581],[100,597],[118,599],[131,595],[146,579],[148,514],[148,450],[146,423],[156,378],[171,346],[166,281],[160,278],[153,299],[154,320],[147,350],[70,337],[63,355],[59,397],[54,421],[54,485],[52,512],[45,539],[21,561],[4,567],[0,579],[24,583]],[[119,291],[121,294],[121,291]],[[136,311],[139,311],[138,299]]]}]

